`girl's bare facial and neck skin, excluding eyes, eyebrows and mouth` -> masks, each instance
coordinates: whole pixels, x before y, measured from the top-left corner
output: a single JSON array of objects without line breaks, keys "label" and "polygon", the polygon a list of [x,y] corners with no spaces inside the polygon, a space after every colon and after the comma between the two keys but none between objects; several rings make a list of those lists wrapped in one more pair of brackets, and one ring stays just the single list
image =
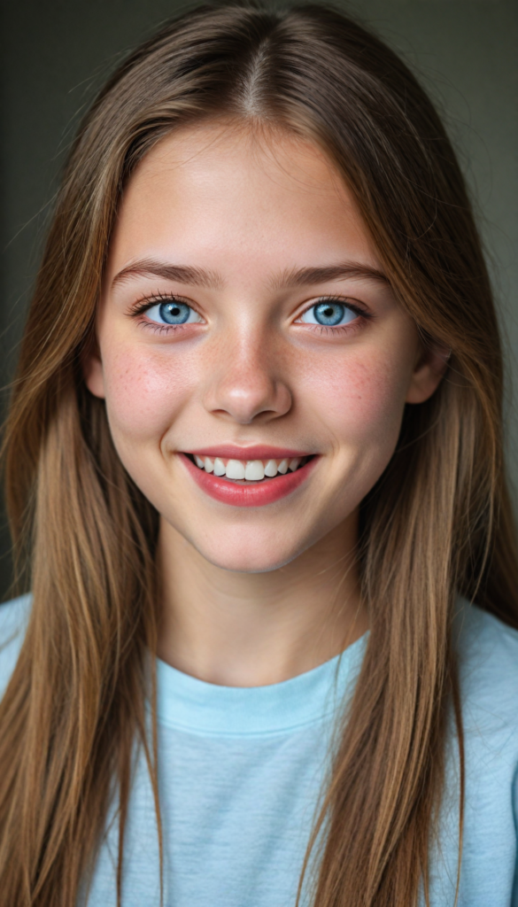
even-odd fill
[{"label": "girl's bare facial and neck skin, excluding eyes, eyebrows and mouth", "polygon": [[[203,268],[198,285],[137,269]],[[293,285],[301,268],[383,274],[347,187],[287,134],[206,123],[162,140],[127,186],[84,363],[122,463],[161,514],[159,654],[214,683],[257,686],[332,658],[368,626],[357,510],[394,452],[406,403],[432,395],[425,351],[379,277]],[[181,297],[175,329],[135,313]],[[332,330],[300,320],[321,297],[361,310]],[[217,444],[318,454],[306,482],[262,507],[213,500],[181,452]],[[246,459],[246,453],[243,454]]]}]

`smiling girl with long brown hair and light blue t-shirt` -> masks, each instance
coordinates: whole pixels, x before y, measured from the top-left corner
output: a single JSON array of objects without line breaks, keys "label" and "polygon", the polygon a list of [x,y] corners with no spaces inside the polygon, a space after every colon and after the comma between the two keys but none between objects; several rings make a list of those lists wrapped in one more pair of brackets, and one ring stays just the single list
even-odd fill
[{"label": "smiling girl with long brown hair and light blue t-shirt", "polygon": [[73,146],[6,428],[5,907],[518,904],[518,559],[406,66],[209,6]]}]

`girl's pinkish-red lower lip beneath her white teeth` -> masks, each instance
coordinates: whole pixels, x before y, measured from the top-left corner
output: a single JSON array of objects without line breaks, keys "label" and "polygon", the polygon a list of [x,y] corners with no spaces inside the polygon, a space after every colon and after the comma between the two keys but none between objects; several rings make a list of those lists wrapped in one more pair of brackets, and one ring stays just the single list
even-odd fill
[{"label": "girl's pinkish-red lower lip beneath her white teeth", "polygon": [[229,482],[228,479],[221,479],[220,476],[213,473],[206,473],[204,469],[195,466],[185,453],[180,453],[179,456],[203,492],[210,494],[210,497],[216,501],[232,504],[234,507],[263,507],[265,504],[280,501],[281,498],[285,498],[306,482],[315,463],[319,460],[318,456],[314,456],[304,466],[300,466],[295,473],[278,475],[274,479],[263,482],[240,485]]}]

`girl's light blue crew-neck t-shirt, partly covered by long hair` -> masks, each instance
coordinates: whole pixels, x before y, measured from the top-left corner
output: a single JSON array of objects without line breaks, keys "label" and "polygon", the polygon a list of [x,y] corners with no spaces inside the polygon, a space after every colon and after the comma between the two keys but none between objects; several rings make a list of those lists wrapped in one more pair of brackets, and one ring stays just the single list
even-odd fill
[{"label": "girl's light blue crew-neck t-shirt, partly covered by long hair", "polygon": [[[30,600],[0,606],[0,641]],[[518,907],[518,632],[464,603],[459,619],[466,791],[459,907]],[[0,695],[23,631],[0,653]],[[367,636],[284,683],[226,688],[158,663],[165,907],[293,907],[328,768],[333,717],[354,688]],[[458,770],[449,746],[432,905],[453,907]],[[88,907],[116,903],[117,824]],[[123,907],[158,907],[159,857],[143,759],[132,787]]]}]

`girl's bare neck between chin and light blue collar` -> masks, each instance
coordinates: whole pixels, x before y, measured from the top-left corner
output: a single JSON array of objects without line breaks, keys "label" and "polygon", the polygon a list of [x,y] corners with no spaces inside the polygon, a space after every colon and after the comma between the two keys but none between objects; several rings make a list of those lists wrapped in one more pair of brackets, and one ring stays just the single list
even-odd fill
[{"label": "girl's bare neck between chin and light blue collar", "polygon": [[367,630],[356,537],[355,519],[284,567],[239,573],[162,521],[159,657],[227,687],[279,683],[333,658]]}]

